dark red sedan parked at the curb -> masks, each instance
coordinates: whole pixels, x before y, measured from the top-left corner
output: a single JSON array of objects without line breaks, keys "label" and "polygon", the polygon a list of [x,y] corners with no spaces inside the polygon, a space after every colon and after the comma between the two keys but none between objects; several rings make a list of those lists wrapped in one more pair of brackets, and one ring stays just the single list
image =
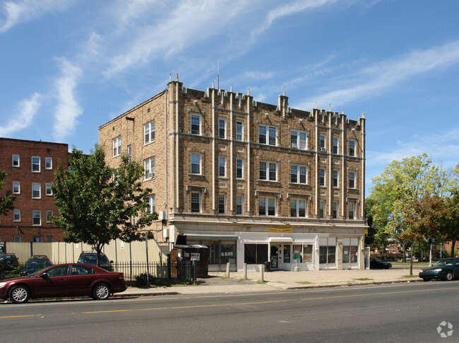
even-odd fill
[{"label": "dark red sedan parked at the curb", "polygon": [[0,281],[0,298],[25,303],[29,298],[91,296],[103,300],[126,291],[124,274],[83,263],[55,264],[27,277]]}]

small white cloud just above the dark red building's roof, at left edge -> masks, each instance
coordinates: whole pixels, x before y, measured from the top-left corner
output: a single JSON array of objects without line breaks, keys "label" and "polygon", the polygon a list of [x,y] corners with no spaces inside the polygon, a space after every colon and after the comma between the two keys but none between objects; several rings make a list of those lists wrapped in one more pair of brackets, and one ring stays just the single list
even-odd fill
[{"label": "small white cloud just above the dark red building's roof, at left edge", "polygon": [[3,127],[0,127],[0,136],[9,136],[13,132],[25,129],[32,124],[33,117],[40,108],[41,97],[39,93],[33,93],[29,99],[21,101],[18,113],[11,115],[11,119]]}]

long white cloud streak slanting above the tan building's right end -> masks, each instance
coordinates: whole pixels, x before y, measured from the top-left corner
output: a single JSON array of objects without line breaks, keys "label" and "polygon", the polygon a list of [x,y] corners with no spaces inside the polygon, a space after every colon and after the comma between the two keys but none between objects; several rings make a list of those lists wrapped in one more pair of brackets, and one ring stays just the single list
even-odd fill
[{"label": "long white cloud streak slanting above the tan building's right end", "polygon": [[398,59],[384,61],[358,71],[354,79],[347,80],[354,86],[329,91],[316,95],[299,105],[299,108],[311,108],[318,103],[344,104],[362,97],[378,95],[414,76],[425,74],[434,69],[441,69],[459,63],[459,41],[451,42],[429,50],[417,50]]}]

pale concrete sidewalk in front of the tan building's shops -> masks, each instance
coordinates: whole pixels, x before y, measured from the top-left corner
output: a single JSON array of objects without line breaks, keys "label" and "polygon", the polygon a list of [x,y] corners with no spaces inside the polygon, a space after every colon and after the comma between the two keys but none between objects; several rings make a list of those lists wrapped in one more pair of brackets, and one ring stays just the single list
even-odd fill
[{"label": "pale concrete sidewalk in front of the tan building's shops", "polygon": [[232,272],[229,279],[225,273],[209,273],[210,277],[198,279],[196,286],[155,287],[140,289],[129,287],[123,293],[115,293],[115,298],[129,296],[155,296],[170,294],[213,294],[213,293],[250,293],[261,291],[280,291],[287,289],[311,289],[321,287],[354,286],[362,284],[391,284],[396,282],[422,281],[417,277],[419,267],[413,268],[415,277],[407,277],[410,269],[394,267],[392,269],[353,269],[319,270],[310,272],[264,272],[264,281],[259,272],[247,273],[242,280],[242,272]]}]

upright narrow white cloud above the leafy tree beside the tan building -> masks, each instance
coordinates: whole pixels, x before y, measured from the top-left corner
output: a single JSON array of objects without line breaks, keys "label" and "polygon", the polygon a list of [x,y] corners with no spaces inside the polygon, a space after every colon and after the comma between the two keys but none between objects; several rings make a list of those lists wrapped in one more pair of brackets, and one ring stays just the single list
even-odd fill
[{"label": "upright narrow white cloud above the leafy tree beside the tan building", "polygon": [[56,141],[64,141],[64,138],[71,134],[76,126],[76,118],[83,113],[83,109],[78,105],[73,94],[82,71],[67,59],[59,59],[59,62],[61,76],[55,83],[58,104],[54,113],[56,122],[54,122],[53,136]]}]

